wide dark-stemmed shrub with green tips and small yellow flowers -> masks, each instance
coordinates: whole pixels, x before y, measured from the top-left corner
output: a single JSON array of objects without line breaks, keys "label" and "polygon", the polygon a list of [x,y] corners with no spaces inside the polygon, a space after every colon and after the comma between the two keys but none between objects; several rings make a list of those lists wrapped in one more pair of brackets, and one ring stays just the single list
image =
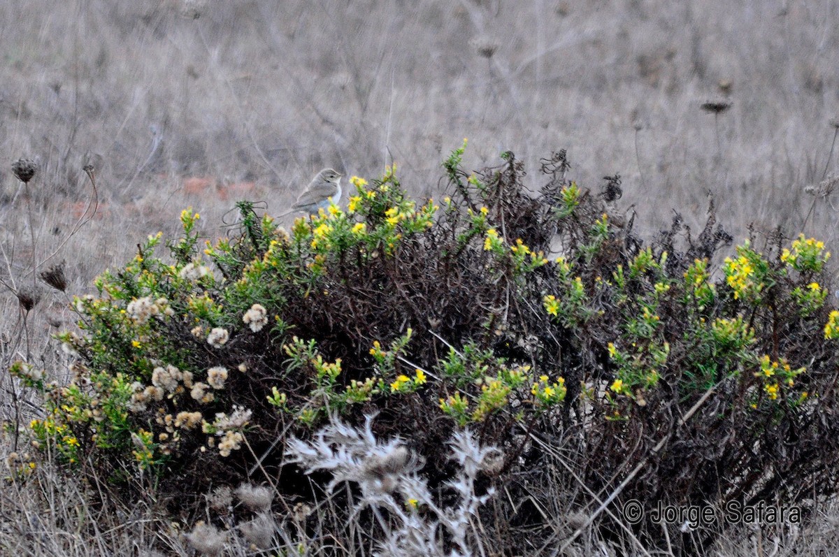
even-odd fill
[{"label": "wide dark-stemmed shrub with green tips and small yellow flowers", "polygon": [[[480,512],[508,517],[494,534],[511,553],[554,535],[536,508],[553,504],[559,460],[576,473],[564,482],[646,508],[836,491],[839,313],[821,242],[751,237],[720,264],[732,238],[711,202],[698,237],[677,215],[645,244],[634,217],[610,214],[619,176],[583,189],[560,151],[534,198],[513,154],[467,174],[465,146],[444,162],[438,201],[410,200],[392,168],[353,177],[346,211],[289,232],[241,202],[237,226],[203,250],[185,210],[167,255],[149,237],[96,280],[98,296],[76,299],[81,335],[60,336],[77,357],[69,385],[13,367],[45,394],[32,435],[124,495],[151,479],[195,508],[211,485],[258,474],[283,474],[289,500],[310,493],[283,447],[330,415],[378,412],[375,434],[424,455],[431,487],[468,426],[503,451],[483,482],[503,478],[509,498]],[[517,497],[534,503],[513,512]]]}]

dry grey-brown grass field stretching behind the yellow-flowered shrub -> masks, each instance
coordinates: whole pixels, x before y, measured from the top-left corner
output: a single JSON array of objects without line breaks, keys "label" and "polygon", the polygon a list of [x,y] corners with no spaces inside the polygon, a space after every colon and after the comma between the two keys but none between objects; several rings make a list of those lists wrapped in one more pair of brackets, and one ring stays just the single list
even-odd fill
[{"label": "dry grey-brown grass field stretching behind the yellow-flowered shrub", "polygon": [[[795,236],[813,200],[804,187],[839,165],[836,156],[828,164],[837,22],[829,0],[5,0],[0,279],[31,280],[27,195],[8,171],[21,156],[41,165],[30,199],[39,260],[84,210],[82,165],[92,157],[101,167],[96,216],[50,261],[67,261],[73,294],[130,258],[138,239],[175,230],[185,206],[216,237],[234,200],[264,200],[279,214],[322,166],[370,177],[395,161],[414,195],[434,195],[440,160],[464,137],[467,166],[512,149],[534,190],[538,160],[554,148],[569,149],[582,185],[620,173],[621,202],[635,204],[649,231],[671,208],[701,221],[711,190],[736,238],[749,223]],[[700,105],[726,84],[732,107],[715,122]],[[835,222],[822,200],[804,232],[836,251]],[[65,296],[42,294],[29,317],[32,349],[55,368],[50,321],[72,317]],[[19,320],[3,288],[3,362],[20,346]],[[0,377],[3,392],[8,382]],[[12,418],[6,396],[0,419]],[[60,502],[81,487],[44,498],[55,487],[42,473],[37,497],[3,491],[0,538],[18,539],[23,517],[27,535],[55,546],[20,534],[18,554],[102,554],[71,535],[85,507]],[[811,537],[835,538],[835,520]],[[126,547],[143,546],[138,532],[154,526],[103,524]],[[754,554],[753,538],[741,543]]]}]

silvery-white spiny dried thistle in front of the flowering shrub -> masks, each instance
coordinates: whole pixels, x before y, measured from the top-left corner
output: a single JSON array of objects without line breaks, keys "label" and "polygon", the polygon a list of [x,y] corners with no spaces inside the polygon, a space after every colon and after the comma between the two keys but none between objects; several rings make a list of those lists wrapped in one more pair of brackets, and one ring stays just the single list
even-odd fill
[{"label": "silvery-white spiny dried thistle in front of the flowering shrub", "polygon": [[[446,482],[456,493],[442,506],[438,505],[420,475],[423,461],[413,455],[399,438],[386,443],[373,435],[373,416],[366,416],[363,428],[353,428],[331,416],[330,424],[304,442],[289,440],[288,462],[307,466],[305,473],[331,471],[330,491],[341,482],[357,482],[362,491],[360,505],[388,509],[395,518],[393,527],[379,542],[382,555],[470,555],[470,537],[477,510],[495,495],[494,487],[478,495],[476,479],[479,472],[494,476],[503,470],[504,455],[494,446],[482,446],[468,429],[452,435],[449,447],[451,460],[459,466]],[[451,503],[451,504],[450,504]],[[434,516],[405,513],[404,508],[426,508]],[[361,507],[358,507],[361,508]],[[296,512],[296,509],[295,509]],[[446,537],[451,551],[440,544]]]}]

